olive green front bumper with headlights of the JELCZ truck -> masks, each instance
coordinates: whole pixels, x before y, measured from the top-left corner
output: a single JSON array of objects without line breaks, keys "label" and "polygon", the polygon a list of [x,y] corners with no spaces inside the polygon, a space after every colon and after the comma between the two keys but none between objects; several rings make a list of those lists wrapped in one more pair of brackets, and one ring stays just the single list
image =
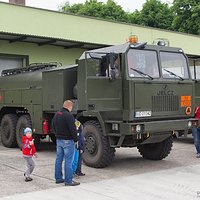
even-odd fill
[{"label": "olive green front bumper with headlights of the JELCZ truck", "polygon": [[[137,146],[141,144],[158,143],[167,139],[176,131],[187,131],[198,124],[197,119],[178,119],[151,122],[119,123],[119,132],[109,136],[119,137],[115,147]],[[126,138],[132,138],[132,142],[125,144]]]}]

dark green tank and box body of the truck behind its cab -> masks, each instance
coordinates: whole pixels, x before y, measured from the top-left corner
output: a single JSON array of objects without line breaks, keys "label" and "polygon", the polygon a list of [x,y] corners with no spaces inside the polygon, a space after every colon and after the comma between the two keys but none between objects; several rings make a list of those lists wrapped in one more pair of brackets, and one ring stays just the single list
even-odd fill
[{"label": "dark green tank and box body of the truck behind its cab", "polygon": [[42,63],[3,70],[0,78],[1,103],[40,105],[43,111],[56,111],[64,100],[76,98],[73,92],[76,83],[77,65]]}]

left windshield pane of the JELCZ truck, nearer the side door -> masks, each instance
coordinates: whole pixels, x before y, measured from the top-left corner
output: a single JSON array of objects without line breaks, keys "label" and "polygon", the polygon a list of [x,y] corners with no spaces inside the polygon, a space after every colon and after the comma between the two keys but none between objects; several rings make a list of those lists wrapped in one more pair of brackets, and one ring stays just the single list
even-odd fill
[{"label": "left windshield pane of the JELCZ truck, nearer the side door", "polygon": [[130,49],[127,60],[129,77],[159,77],[156,51]]}]

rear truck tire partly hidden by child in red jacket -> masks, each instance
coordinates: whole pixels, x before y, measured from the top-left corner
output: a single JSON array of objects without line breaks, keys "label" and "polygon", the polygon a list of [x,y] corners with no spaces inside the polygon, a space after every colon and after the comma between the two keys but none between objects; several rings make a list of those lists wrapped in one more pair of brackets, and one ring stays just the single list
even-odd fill
[{"label": "rear truck tire partly hidden by child in red jacket", "polygon": [[29,115],[22,115],[17,121],[16,127],[16,139],[18,147],[22,148],[22,136],[24,134],[25,128],[32,128],[31,117]]}]

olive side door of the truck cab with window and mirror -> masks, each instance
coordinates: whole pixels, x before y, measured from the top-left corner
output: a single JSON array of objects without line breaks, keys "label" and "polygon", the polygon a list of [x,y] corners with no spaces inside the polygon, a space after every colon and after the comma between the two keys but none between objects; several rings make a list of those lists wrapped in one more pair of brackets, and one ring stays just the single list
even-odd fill
[{"label": "olive side door of the truck cab with window and mirror", "polygon": [[121,110],[120,57],[115,55],[113,61],[110,60],[110,54],[103,54],[100,57],[91,55],[91,57],[87,60],[86,69],[87,109],[99,111]]}]

